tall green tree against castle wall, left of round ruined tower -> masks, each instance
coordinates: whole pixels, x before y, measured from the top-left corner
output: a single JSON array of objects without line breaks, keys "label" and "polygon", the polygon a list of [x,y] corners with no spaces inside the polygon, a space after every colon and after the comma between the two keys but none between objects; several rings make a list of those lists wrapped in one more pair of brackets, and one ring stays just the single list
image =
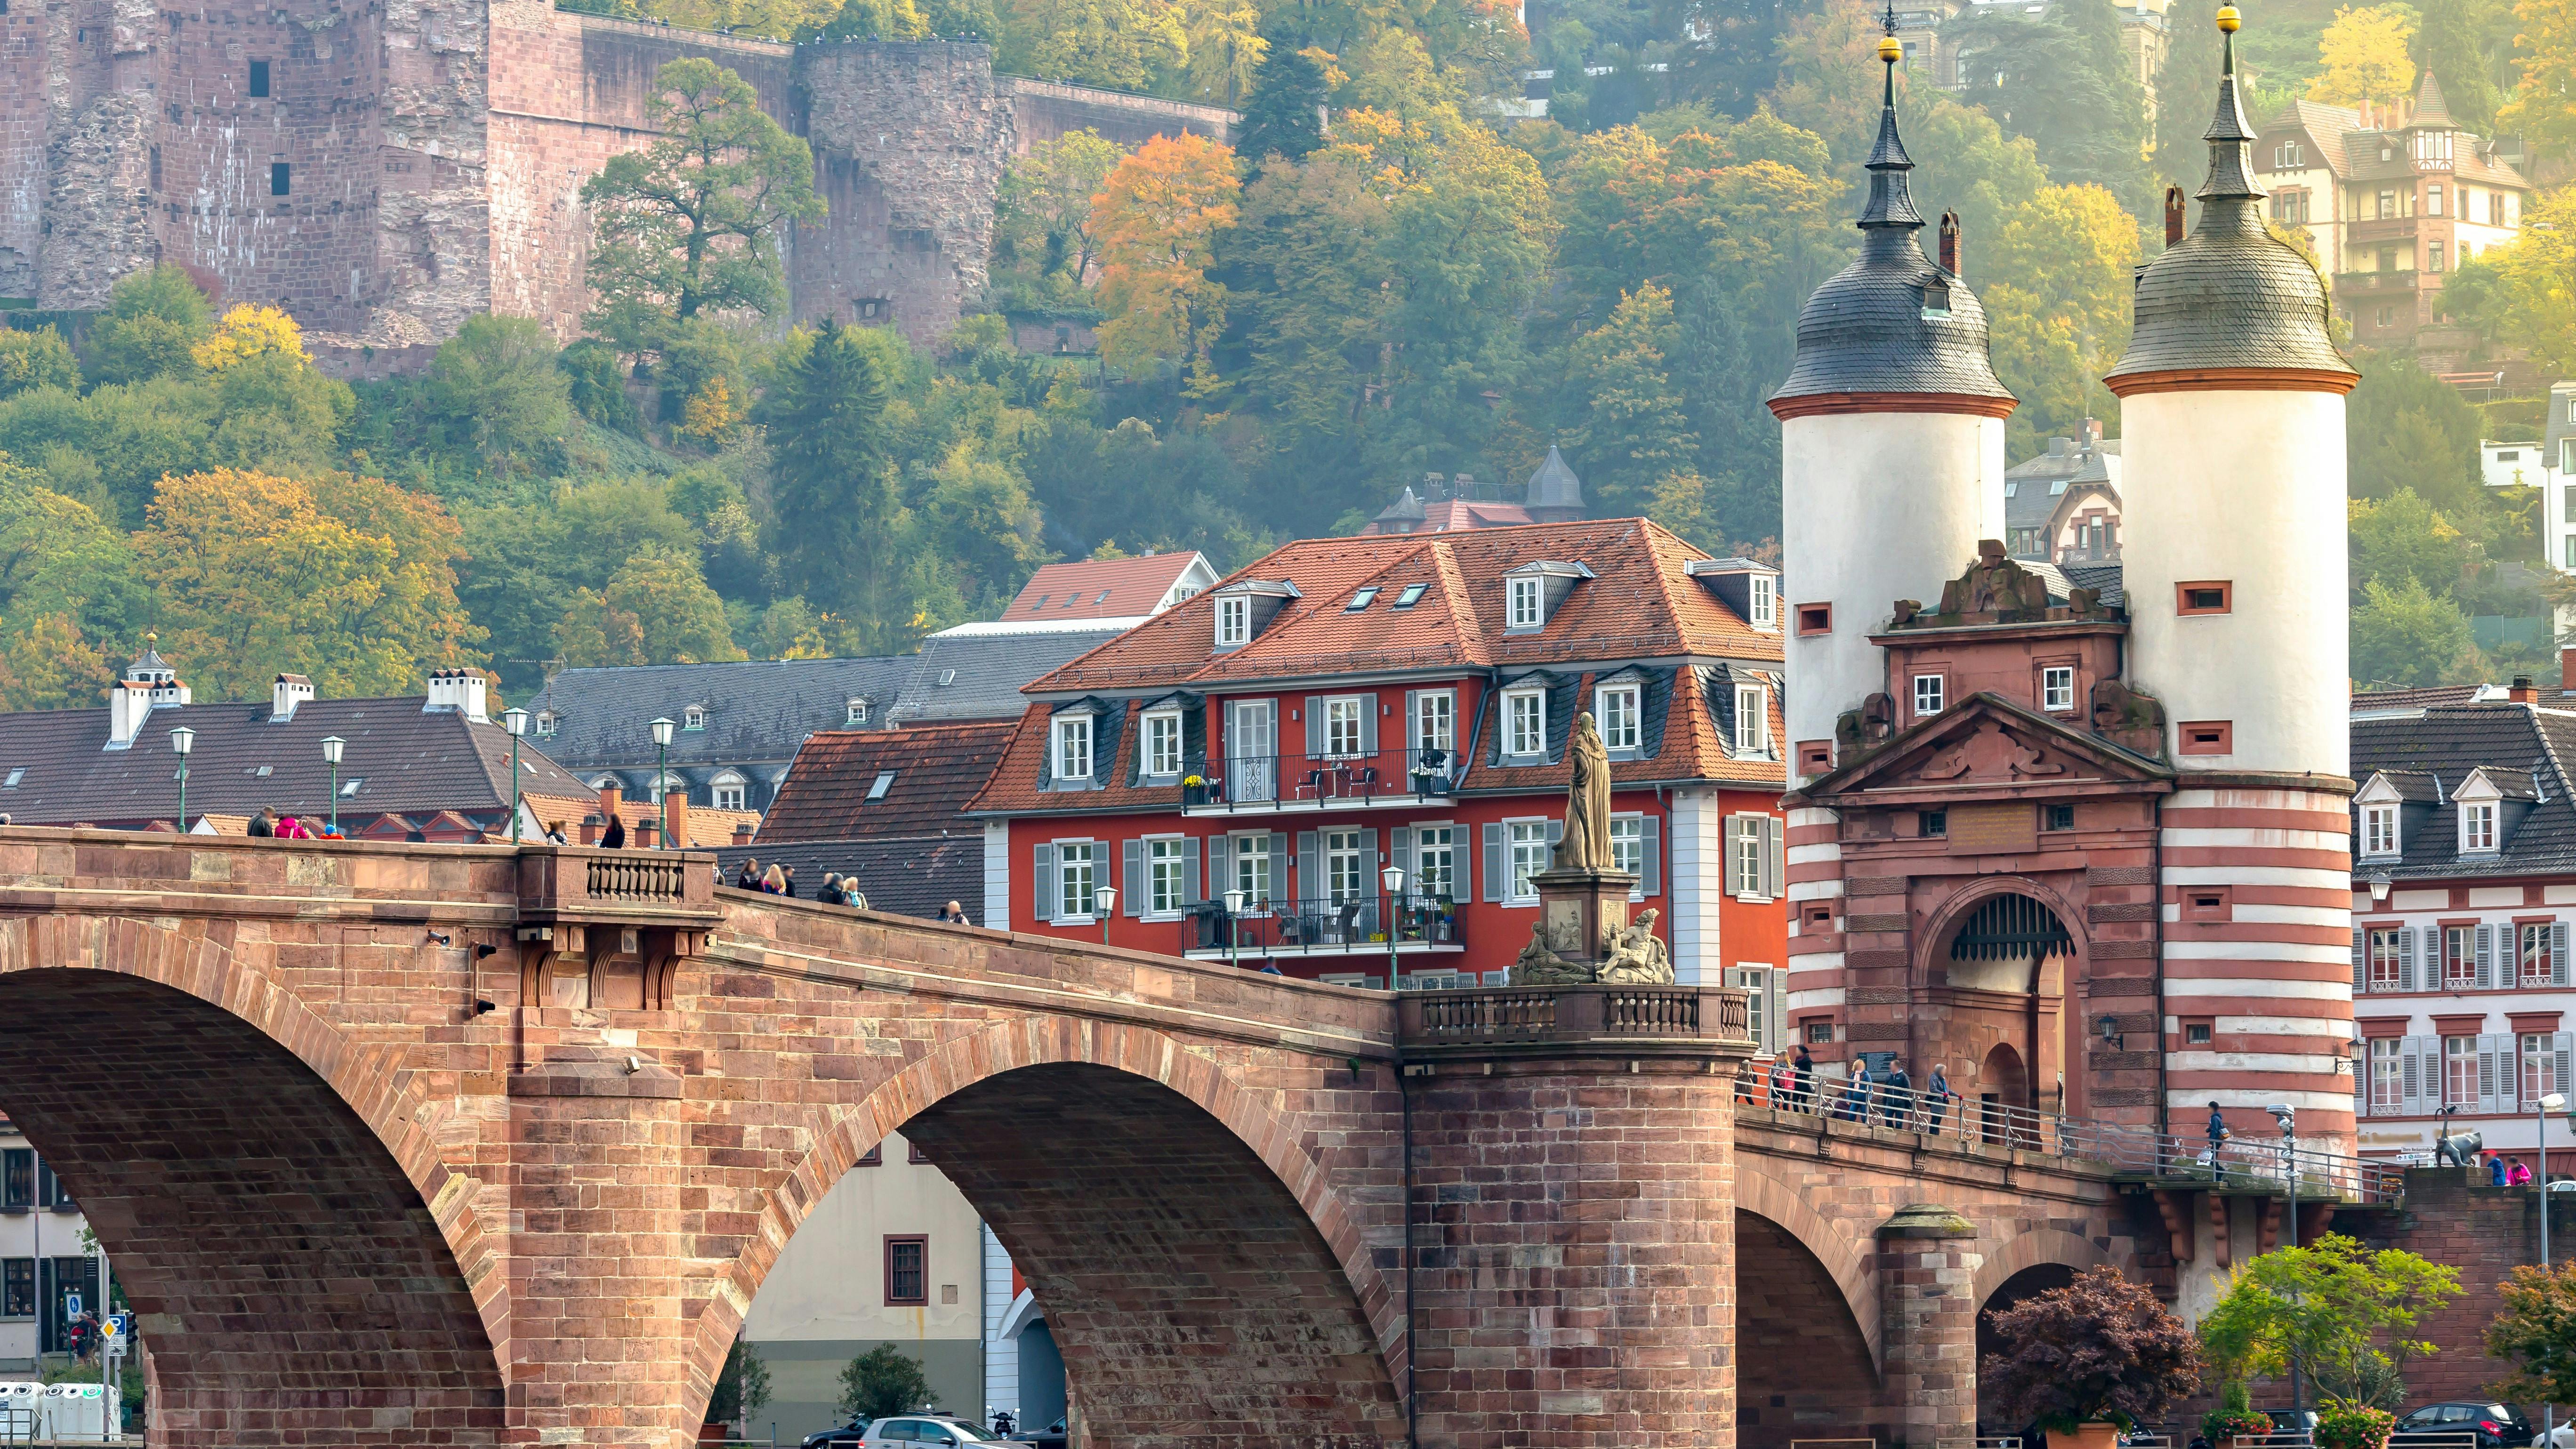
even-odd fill
[{"label": "tall green tree against castle wall, left of round ruined tower", "polygon": [[659,134],[582,183],[590,206],[590,325],[652,351],[698,312],[770,312],[786,299],[778,237],[822,219],[814,152],[778,126],[747,80],[701,57],[654,72]]}]

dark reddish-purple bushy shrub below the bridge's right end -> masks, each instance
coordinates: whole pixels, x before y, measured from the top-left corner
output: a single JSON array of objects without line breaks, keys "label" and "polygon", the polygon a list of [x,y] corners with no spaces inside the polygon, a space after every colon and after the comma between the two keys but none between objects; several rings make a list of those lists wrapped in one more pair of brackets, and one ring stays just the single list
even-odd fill
[{"label": "dark reddish-purple bushy shrub below the bridge's right end", "polygon": [[1986,1354],[1978,1377],[2004,1421],[2048,1431],[2048,1449],[2112,1449],[2200,1390],[2200,1341],[2115,1269],[2076,1274],[1989,1325],[2002,1351]]}]

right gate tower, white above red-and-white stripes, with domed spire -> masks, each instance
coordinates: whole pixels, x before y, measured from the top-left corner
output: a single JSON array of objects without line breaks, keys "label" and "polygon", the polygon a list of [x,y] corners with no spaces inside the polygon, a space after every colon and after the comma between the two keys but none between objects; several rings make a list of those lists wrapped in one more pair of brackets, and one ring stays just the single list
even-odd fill
[{"label": "right gate tower, white above red-and-white stripes, with domed spire", "polygon": [[[2316,268],[2264,227],[2236,26],[2223,8],[2200,224],[2138,273],[2130,345],[2105,379],[2125,433],[2128,676],[2164,704],[2182,776],[2159,812],[2166,1114],[2200,1122],[2215,1101],[2239,1134],[2272,1137],[2267,1109],[2293,1106],[2303,1142],[2349,1152],[2357,376]],[[2208,1049],[2179,1052],[2177,1021],[2195,1018]]]}]

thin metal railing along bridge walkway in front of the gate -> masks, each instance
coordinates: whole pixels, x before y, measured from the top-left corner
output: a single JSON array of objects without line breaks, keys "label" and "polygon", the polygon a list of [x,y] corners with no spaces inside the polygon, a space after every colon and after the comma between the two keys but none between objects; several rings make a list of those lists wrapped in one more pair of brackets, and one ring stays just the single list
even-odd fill
[{"label": "thin metal railing along bridge walkway in front of the gate", "polygon": [[1893,1088],[1886,1083],[1850,1083],[1842,1078],[1801,1078],[1780,1070],[1777,1062],[1744,1062],[1736,1073],[1736,1101],[1850,1122],[1855,1127],[1891,1127],[1927,1137],[1953,1137],[1973,1147],[2007,1147],[2048,1158],[2079,1158],[2099,1163],[2115,1173],[2138,1173],[2159,1183],[2208,1183],[2221,1191],[2290,1191],[2290,1173],[2298,1173],[2298,1196],[2311,1201],[2396,1201],[2403,1196],[2406,1176],[2388,1163],[2339,1158],[2308,1147],[2293,1150],[2272,1137],[2182,1137],[2133,1127],[2123,1122],[2089,1122],[2081,1116],[2056,1116],[2027,1106],[1963,1098],[1958,1093],[1927,1093],[1922,1088]]}]

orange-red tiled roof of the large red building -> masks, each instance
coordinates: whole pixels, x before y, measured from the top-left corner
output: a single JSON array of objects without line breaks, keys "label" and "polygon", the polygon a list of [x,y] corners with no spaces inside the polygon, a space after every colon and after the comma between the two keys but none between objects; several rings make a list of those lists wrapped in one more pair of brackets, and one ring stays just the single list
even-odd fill
[{"label": "orange-red tiled roof of the large red building", "polygon": [[[1780,634],[1731,614],[1685,567],[1703,559],[1646,518],[1533,523],[1468,534],[1303,539],[1231,578],[1296,583],[1298,598],[1252,637],[1216,652],[1216,590],[1200,593],[1079,660],[1041,676],[1030,694],[1131,694],[1231,681],[1510,668],[1631,657],[1777,660]],[[1535,634],[1504,634],[1502,575],[1538,559],[1582,562]],[[1412,608],[1396,608],[1406,585]],[[1350,611],[1355,593],[1378,596]]]}]

